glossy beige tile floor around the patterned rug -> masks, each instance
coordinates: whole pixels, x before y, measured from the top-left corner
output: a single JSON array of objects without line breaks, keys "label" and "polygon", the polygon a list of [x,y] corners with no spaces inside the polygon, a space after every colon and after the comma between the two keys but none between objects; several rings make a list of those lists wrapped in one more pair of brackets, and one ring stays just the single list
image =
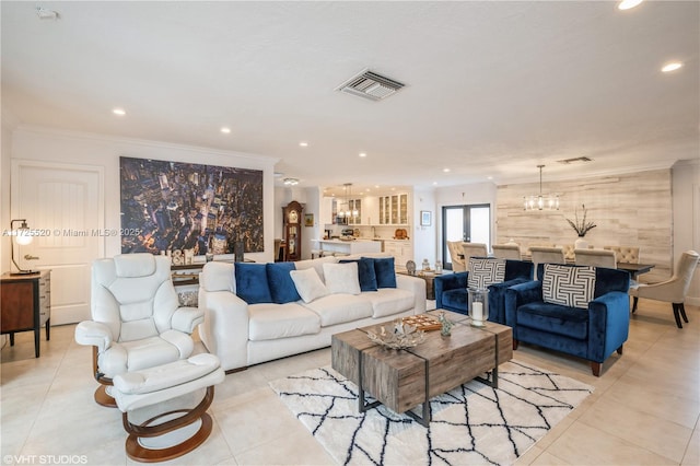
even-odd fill
[{"label": "glossy beige tile floor around the patterned rug", "polygon": [[[600,377],[581,360],[521,345],[516,359],[586,382],[595,392],[517,464],[700,464],[700,308],[687,312],[690,324],[678,329],[670,305],[640,300],[625,354],[611,356]],[[18,334],[15,346],[2,349],[3,464],[135,464],[124,452],[120,412],[92,400],[91,349],[73,341],[73,328],[54,327],[38,359],[32,333]],[[268,386],[329,363],[330,351],[323,349],[228,375],[210,408],[211,436],[170,463],[332,464]]]}]

